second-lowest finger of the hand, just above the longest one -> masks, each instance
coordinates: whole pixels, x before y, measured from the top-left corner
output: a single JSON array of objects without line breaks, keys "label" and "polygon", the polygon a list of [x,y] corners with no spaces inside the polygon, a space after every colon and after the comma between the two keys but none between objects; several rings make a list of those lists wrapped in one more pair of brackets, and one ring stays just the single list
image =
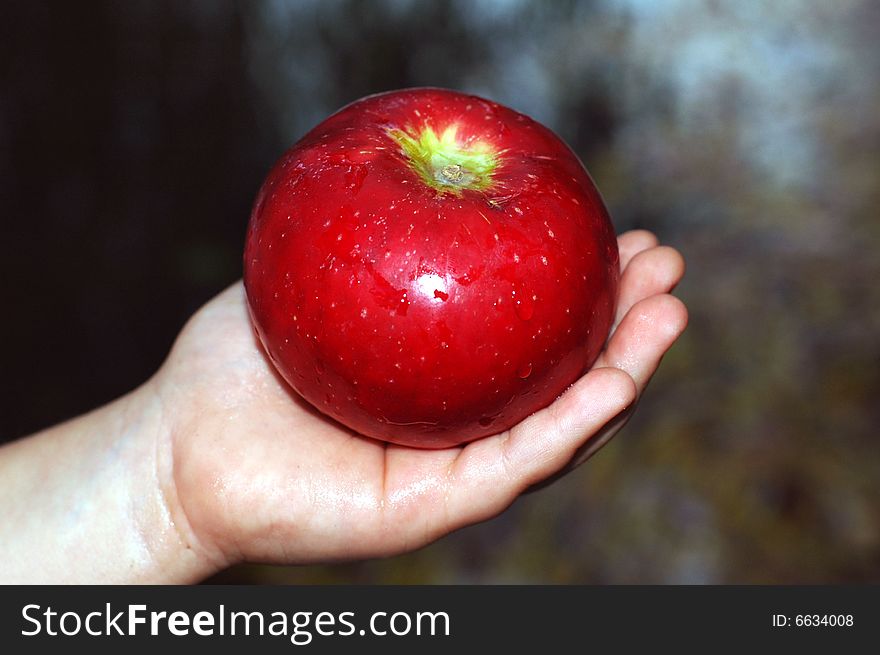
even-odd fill
[{"label": "second-lowest finger of the hand, just above the longest one", "polygon": [[596,366],[626,372],[641,393],[687,321],[687,308],[675,296],[659,294],[640,300],[611,335]]}]

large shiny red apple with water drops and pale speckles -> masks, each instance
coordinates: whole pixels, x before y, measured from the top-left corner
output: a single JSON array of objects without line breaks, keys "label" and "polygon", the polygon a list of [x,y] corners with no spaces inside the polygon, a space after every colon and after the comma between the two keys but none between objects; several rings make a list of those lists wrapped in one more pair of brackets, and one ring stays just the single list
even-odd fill
[{"label": "large shiny red apple with water drops and pale speckles", "polygon": [[[425,128],[452,149],[425,150],[427,175],[458,153],[488,157],[491,173],[426,182],[401,145],[418,150]],[[293,389],[361,435],[422,448],[553,402],[598,356],[619,275],[605,205],[559,137],[435,88],[358,100],[288,150],[244,257],[252,321]]]}]

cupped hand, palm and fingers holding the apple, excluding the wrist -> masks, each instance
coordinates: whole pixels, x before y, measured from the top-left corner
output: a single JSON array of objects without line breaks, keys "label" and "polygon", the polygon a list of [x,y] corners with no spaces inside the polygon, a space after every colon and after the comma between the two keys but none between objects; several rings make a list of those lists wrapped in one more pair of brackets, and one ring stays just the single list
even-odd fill
[{"label": "cupped hand, palm and fingers holding the apple, excluding the wrist", "polygon": [[167,445],[195,536],[228,560],[299,563],[403,552],[497,514],[579,459],[683,329],[683,306],[665,295],[680,257],[653,245],[646,233],[621,237],[623,265],[633,262],[621,284],[626,318],[590,373],[512,430],[445,450],[386,445],[318,414],[265,358],[241,285],[227,289],[157,376],[165,405],[187,408],[170,412]]}]

